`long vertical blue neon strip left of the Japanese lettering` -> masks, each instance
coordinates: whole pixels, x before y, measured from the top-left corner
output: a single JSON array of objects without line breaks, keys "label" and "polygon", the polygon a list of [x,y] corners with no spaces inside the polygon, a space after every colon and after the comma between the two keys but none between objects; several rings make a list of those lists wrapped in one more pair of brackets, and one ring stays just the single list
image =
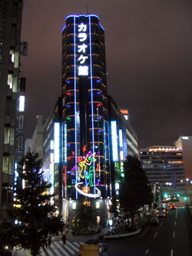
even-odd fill
[{"label": "long vertical blue neon strip left of the Japanese lettering", "polygon": [[[77,112],[77,91],[76,91],[76,38],[75,38],[75,16],[74,16],[74,151],[75,151],[75,165],[77,165],[77,123],[76,123],[76,112]],[[75,171],[76,183],[78,182],[78,170]],[[76,199],[78,199],[78,191],[76,190]]]}]

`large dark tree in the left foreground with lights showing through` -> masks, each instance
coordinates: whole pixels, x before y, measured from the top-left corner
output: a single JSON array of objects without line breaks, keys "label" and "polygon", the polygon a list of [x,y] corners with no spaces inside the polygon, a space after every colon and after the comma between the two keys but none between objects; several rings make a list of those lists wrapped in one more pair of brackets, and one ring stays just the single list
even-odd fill
[{"label": "large dark tree in the left foreground with lights showing through", "polygon": [[32,256],[36,256],[45,244],[48,232],[52,230],[52,222],[57,221],[58,226],[62,225],[61,217],[53,217],[55,206],[49,204],[53,195],[48,194],[51,184],[43,178],[41,159],[37,153],[28,151],[22,158],[18,166],[18,178],[23,186],[18,185],[15,191],[11,215],[15,220],[12,230],[16,232],[12,238],[15,244],[29,249]]}]

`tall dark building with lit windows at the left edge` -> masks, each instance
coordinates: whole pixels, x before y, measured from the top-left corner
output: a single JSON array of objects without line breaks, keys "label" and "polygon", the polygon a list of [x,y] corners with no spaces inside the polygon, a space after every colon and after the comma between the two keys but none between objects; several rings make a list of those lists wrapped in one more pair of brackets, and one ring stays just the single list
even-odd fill
[{"label": "tall dark building with lit windows at the left edge", "polygon": [[22,0],[0,2],[0,220],[12,202],[23,154],[25,78],[19,78]]}]

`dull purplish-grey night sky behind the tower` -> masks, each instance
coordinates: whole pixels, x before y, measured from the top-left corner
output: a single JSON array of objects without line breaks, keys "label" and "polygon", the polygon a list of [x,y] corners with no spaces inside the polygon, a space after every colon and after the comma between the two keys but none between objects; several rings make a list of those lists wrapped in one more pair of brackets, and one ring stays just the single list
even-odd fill
[{"label": "dull purplish-grey night sky behind the tower", "polygon": [[128,108],[139,146],[192,135],[190,0],[25,0],[22,57],[25,136],[61,95],[61,28],[70,14],[96,14],[105,28],[108,94]]}]

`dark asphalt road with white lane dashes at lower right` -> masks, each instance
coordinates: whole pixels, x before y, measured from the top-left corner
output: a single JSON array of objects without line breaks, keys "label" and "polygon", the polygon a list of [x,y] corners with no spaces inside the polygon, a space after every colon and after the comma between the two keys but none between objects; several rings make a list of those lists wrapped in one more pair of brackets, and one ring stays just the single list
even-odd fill
[{"label": "dark asphalt road with white lane dashes at lower right", "polygon": [[108,256],[190,256],[190,222],[185,208],[170,210],[167,218],[140,238],[110,241]]}]

